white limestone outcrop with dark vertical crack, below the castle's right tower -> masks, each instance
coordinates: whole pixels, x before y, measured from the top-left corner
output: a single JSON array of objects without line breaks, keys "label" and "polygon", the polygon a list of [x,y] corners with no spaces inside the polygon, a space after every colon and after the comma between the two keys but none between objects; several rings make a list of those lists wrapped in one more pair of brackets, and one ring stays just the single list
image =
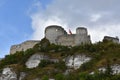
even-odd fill
[{"label": "white limestone outcrop with dark vertical crack, below the castle's right tower", "polygon": [[91,58],[85,55],[75,55],[67,57],[65,63],[69,68],[78,69],[83,63],[89,60],[91,60]]}]

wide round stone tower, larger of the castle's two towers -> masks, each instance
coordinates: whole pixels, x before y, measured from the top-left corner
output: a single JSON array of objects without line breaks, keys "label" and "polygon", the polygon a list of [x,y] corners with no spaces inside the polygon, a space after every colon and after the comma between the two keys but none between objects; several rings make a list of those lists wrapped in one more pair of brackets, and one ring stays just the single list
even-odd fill
[{"label": "wide round stone tower, larger of the castle's two towers", "polygon": [[57,39],[61,35],[66,35],[67,32],[58,25],[51,25],[45,29],[45,38],[47,38],[50,43],[57,44]]}]

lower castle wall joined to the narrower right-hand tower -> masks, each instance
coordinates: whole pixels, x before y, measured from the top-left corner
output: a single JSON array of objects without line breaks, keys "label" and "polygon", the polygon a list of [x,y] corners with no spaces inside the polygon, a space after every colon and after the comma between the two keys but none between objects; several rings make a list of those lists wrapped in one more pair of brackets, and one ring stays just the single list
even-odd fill
[{"label": "lower castle wall joined to the narrower right-hand tower", "polygon": [[76,34],[62,35],[58,37],[57,44],[64,46],[76,46],[81,44],[91,43],[90,36],[88,35],[87,29],[79,27],[76,29]]}]

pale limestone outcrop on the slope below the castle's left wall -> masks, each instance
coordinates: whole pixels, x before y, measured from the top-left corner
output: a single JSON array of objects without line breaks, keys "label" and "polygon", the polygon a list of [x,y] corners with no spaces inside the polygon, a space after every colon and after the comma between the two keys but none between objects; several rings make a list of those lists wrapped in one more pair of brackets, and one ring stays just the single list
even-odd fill
[{"label": "pale limestone outcrop on the slope below the castle's left wall", "polygon": [[43,59],[47,59],[47,56],[37,53],[32,55],[25,65],[27,68],[36,68]]}]

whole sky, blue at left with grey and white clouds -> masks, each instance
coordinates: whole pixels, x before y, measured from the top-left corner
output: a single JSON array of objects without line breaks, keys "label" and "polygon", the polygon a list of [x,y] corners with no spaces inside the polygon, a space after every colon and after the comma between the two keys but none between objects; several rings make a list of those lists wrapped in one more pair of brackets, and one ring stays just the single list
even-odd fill
[{"label": "whole sky, blue at left with grey and white clouds", "polygon": [[120,0],[0,0],[0,57],[11,45],[40,40],[48,25],[75,33],[86,27],[92,42],[120,37]]}]

